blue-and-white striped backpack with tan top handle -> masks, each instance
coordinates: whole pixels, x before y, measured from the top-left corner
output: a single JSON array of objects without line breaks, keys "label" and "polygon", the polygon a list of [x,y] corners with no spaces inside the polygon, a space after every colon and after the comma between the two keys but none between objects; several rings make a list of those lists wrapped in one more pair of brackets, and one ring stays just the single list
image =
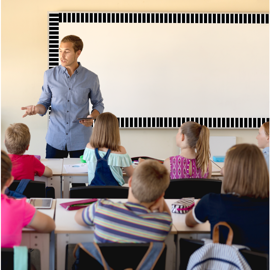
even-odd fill
[{"label": "blue-and-white striped backpack with tan top handle", "polygon": [[[226,244],[219,243],[219,225],[229,228]],[[221,221],[213,228],[213,240],[203,238],[204,245],[189,258],[187,270],[251,270],[240,249],[249,247],[232,244],[233,231],[228,223]]]}]

